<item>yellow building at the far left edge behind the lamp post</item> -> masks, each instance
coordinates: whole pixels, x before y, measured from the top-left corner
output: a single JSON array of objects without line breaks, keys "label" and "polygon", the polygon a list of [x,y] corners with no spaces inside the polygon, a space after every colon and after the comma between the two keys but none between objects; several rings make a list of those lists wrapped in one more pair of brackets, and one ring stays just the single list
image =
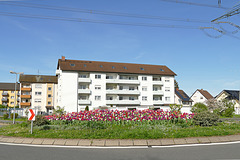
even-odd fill
[{"label": "yellow building at the far left edge behind the lamp post", "polygon": [[[16,88],[16,106],[19,106],[19,84]],[[0,105],[14,107],[15,83],[0,83]]]}]

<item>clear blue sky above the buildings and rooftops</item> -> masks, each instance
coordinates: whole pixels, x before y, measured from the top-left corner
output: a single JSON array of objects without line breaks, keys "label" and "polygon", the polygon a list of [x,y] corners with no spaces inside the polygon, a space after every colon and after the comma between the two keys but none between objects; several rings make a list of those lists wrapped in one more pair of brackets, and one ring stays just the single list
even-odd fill
[{"label": "clear blue sky above the buildings and rooftops", "polygon": [[[11,1],[10,1],[11,2]],[[95,60],[108,62],[167,65],[176,74],[181,89],[191,95],[206,89],[213,96],[223,89],[240,89],[240,33],[228,24],[212,24],[227,9],[164,2],[162,0],[28,0],[18,3],[60,6],[104,12],[120,12],[162,17],[143,19],[62,10],[6,5],[0,0],[0,11],[27,15],[55,16],[132,24],[148,23],[183,26],[183,28],[143,27],[102,23],[57,21],[3,16],[0,13],[0,82],[14,82],[10,70],[25,74],[54,75],[57,60]],[[184,2],[216,5],[217,0]],[[238,0],[222,0],[231,8]],[[8,3],[9,4],[9,3]],[[12,4],[12,3],[10,3]],[[170,18],[169,18],[170,17]],[[169,21],[193,19],[199,22]],[[239,15],[222,21],[240,25]],[[207,36],[199,27],[226,30],[220,38]],[[189,29],[195,28],[195,29]],[[212,29],[212,36],[220,35]]]}]

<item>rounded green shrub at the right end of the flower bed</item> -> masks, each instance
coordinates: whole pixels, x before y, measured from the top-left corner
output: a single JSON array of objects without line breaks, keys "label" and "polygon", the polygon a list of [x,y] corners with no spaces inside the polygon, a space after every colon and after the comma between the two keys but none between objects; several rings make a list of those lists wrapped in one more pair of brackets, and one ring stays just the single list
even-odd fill
[{"label": "rounded green shrub at the right end of the flower bed", "polygon": [[193,116],[193,123],[199,126],[215,126],[219,122],[219,116],[209,111],[199,112]]}]

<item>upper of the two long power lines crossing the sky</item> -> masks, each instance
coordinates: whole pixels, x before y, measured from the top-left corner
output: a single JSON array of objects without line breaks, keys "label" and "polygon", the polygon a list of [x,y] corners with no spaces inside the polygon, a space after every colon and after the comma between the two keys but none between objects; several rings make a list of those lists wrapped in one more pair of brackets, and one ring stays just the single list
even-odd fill
[{"label": "upper of the two long power lines crossing the sky", "polygon": [[184,18],[151,16],[151,15],[130,14],[130,13],[121,13],[121,12],[106,12],[106,11],[100,11],[100,10],[88,10],[88,9],[81,9],[81,8],[59,7],[59,6],[41,5],[41,4],[24,3],[24,2],[9,2],[9,1],[6,2],[5,1],[5,2],[1,2],[0,4],[20,6],[20,7],[28,7],[28,8],[40,8],[40,9],[47,9],[47,10],[81,12],[81,13],[89,13],[89,14],[100,14],[100,15],[108,15],[108,16],[144,18],[144,19],[160,19],[160,20],[168,20],[168,21],[182,21],[182,22],[194,22],[194,23],[209,23],[209,21],[198,20],[198,19],[184,19]]}]

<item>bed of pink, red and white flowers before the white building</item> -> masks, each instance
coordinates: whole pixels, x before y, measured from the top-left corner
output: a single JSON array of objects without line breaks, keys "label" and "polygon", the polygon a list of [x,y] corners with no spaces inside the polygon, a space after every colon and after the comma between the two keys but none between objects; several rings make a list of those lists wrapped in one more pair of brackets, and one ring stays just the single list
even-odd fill
[{"label": "bed of pink, red and white flowers before the white building", "polygon": [[46,116],[48,120],[67,121],[159,121],[192,119],[193,114],[163,110],[92,110],[64,114],[62,116]]}]

